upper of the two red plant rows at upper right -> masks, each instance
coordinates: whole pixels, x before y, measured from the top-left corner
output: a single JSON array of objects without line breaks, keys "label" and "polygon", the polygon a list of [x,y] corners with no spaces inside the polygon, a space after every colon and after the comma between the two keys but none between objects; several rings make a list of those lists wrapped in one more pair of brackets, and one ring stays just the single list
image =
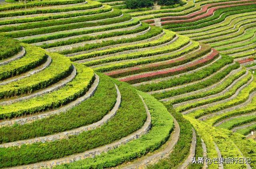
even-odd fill
[{"label": "upper of the two red plant rows at upper right", "polygon": [[161,21],[170,21],[170,20],[187,20],[194,18],[200,14],[204,14],[208,12],[207,10],[209,8],[215,7],[215,6],[223,6],[223,5],[231,5],[231,4],[242,4],[242,3],[248,3],[250,1],[255,1],[255,0],[236,0],[236,1],[230,1],[230,2],[219,2],[219,3],[213,3],[213,4],[206,4],[201,7],[201,10],[196,11],[194,13],[188,14],[186,16],[170,16],[170,17],[164,17],[161,18]]}]

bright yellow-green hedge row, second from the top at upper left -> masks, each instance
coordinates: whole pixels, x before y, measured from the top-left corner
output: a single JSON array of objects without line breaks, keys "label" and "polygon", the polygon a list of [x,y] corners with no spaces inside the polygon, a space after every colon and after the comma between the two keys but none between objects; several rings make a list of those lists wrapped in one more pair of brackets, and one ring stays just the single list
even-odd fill
[{"label": "bright yellow-green hedge row, second from the top at upper left", "polygon": [[24,15],[34,15],[34,14],[49,14],[49,13],[57,13],[57,12],[69,12],[75,10],[87,10],[92,8],[98,8],[102,6],[102,4],[94,3],[93,5],[85,4],[85,5],[78,5],[74,7],[67,7],[67,8],[49,8],[49,9],[31,9],[31,10],[20,10],[20,11],[12,11],[12,12],[5,12],[0,13],[0,18],[5,17],[12,17],[12,16],[24,16]]}]

